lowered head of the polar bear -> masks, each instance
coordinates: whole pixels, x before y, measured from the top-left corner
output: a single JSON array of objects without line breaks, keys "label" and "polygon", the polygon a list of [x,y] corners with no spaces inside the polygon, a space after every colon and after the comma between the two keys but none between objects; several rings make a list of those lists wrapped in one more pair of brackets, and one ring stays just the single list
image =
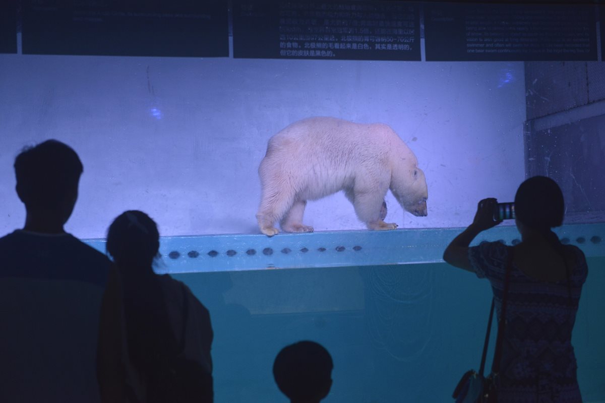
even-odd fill
[{"label": "lowered head of the polar bear", "polygon": [[417,217],[426,217],[428,187],[424,172],[419,167],[414,167],[407,172],[404,180],[400,183],[391,183],[391,192],[401,204],[405,211]]}]

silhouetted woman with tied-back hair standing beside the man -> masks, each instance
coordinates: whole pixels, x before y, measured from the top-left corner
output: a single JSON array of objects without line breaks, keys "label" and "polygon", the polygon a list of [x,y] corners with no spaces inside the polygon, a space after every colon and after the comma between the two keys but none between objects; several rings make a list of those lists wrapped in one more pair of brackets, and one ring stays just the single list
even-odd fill
[{"label": "silhouetted woman with tied-back hair standing beside the man", "polygon": [[142,211],[120,214],[109,228],[106,249],[115,268],[97,350],[103,401],[212,401],[208,310],[186,285],[155,274],[159,245],[157,226]]}]

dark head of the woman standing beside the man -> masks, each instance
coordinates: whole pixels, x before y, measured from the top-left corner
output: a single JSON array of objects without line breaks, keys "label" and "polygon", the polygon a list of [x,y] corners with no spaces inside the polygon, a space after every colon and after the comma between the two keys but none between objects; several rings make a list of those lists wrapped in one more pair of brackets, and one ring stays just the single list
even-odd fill
[{"label": "dark head of the woman standing beside the man", "polygon": [[106,250],[119,267],[151,268],[159,248],[157,225],[143,211],[125,211],[107,231]]}]

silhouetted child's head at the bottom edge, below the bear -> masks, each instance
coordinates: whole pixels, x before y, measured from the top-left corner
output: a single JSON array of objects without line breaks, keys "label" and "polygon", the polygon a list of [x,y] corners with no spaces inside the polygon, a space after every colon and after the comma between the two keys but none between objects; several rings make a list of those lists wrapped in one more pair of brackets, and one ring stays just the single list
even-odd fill
[{"label": "silhouetted child's head at the bottom edge, below the bear", "polygon": [[328,350],[313,341],[299,341],[275,357],[273,376],[293,403],[319,402],[330,393],[333,367]]}]

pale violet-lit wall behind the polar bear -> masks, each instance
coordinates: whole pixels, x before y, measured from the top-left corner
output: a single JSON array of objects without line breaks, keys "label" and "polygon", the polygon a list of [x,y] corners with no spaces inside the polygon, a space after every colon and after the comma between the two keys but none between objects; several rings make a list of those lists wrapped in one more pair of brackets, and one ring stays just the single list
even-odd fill
[{"label": "pale violet-lit wall behind the polar bear", "polygon": [[[48,138],[84,164],[76,236],[132,208],[162,235],[256,233],[267,139],[316,115],[390,124],[414,150],[429,214],[389,194],[400,228],[467,225],[524,179],[523,63],[0,55],[0,234],[24,224],[13,160]],[[310,202],[306,224],[365,228],[342,194]]]}]

